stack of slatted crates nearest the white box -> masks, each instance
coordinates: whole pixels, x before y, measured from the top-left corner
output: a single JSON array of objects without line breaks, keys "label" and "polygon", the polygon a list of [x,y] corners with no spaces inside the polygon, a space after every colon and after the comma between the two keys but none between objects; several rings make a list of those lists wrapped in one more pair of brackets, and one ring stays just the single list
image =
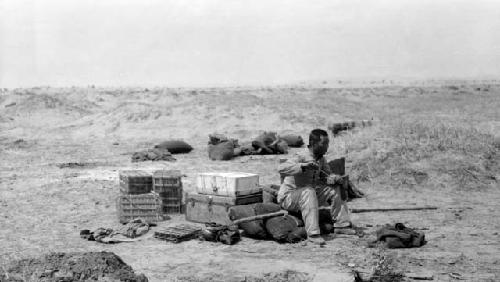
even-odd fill
[{"label": "stack of slatted crates nearest the white box", "polygon": [[159,194],[162,212],[182,212],[182,174],[179,170],[158,170],[153,173],[153,190]]}]

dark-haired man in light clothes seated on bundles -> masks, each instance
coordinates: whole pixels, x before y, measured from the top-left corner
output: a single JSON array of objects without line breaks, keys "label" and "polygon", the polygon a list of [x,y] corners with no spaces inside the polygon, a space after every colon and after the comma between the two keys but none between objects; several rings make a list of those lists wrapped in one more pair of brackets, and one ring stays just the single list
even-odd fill
[{"label": "dark-haired man in light clothes seated on bundles", "polygon": [[291,212],[300,212],[304,219],[308,241],[324,245],[320,236],[319,206],[330,205],[335,226],[350,226],[347,205],[341,197],[339,175],[331,174],[324,155],[328,151],[328,133],[314,129],[309,134],[307,150],[281,163],[279,172],[284,176],[278,192],[278,203]]}]

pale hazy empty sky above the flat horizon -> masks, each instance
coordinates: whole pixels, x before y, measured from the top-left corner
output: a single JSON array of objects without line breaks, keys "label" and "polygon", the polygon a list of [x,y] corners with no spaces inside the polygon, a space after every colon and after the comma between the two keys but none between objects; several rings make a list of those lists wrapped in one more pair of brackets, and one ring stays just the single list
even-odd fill
[{"label": "pale hazy empty sky above the flat horizon", "polygon": [[0,87],[500,78],[500,1],[0,0],[0,9]]}]

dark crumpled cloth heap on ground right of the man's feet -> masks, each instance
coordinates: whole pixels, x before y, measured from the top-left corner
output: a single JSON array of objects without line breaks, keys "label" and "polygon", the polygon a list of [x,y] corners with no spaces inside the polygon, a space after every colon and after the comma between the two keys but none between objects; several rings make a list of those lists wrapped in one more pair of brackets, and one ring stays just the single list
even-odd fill
[{"label": "dark crumpled cloth heap on ground right of the man's feet", "polygon": [[394,226],[387,224],[377,230],[377,241],[385,242],[388,248],[414,248],[423,246],[425,234],[396,223]]}]

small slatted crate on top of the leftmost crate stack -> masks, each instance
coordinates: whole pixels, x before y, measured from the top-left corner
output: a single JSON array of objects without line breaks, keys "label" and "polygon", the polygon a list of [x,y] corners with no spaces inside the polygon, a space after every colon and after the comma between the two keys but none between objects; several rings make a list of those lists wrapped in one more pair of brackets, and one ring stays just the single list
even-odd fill
[{"label": "small slatted crate on top of the leftmost crate stack", "polygon": [[153,189],[153,177],[142,170],[122,170],[119,179],[123,194],[146,194]]}]

